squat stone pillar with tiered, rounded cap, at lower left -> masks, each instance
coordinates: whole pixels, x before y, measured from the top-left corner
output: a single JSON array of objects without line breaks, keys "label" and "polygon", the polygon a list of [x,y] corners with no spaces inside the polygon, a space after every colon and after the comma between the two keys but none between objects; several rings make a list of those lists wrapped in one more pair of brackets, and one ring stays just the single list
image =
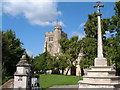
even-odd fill
[{"label": "squat stone pillar with tiered, rounded cap, at lower left", "polygon": [[27,58],[25,55],[22,56],[18,64],[16,65],[17,69],[14,74],[14,90],[22,89],[28,90],[31,87],[31,65],[28,64]]}]

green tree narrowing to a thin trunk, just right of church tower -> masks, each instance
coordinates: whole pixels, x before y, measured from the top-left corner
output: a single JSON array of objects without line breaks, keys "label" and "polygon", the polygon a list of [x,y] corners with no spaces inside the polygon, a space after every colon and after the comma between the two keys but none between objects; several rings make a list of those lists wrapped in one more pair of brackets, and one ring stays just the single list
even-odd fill
[{"label": "green tree narrowing to a thin trunk, just right of church tower", "polygon": [[[78,57],[79,51],[80,51],[80,44],[78,40],[78,36],[73,36],[69,39],[62,38],[59,40],[61,51],[64,57],[66,58],[68,71],[74,66],[73,62]],[[66,75],[68,74],[68,71]]]}]

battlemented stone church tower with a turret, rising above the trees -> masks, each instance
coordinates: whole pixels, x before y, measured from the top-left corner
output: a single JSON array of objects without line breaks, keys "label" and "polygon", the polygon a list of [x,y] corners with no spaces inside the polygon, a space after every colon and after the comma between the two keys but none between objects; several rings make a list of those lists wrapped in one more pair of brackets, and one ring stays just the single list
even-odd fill
[{"label": "battlemented stone church tower with a turret, rising above the trees", "polygon": [[54,31],[46,32],[45,36],[44,52],[48,51],[53,56],[60,54],[58,40],[67,37],[67,34],[62,31],[62,26],[55,26]]}]

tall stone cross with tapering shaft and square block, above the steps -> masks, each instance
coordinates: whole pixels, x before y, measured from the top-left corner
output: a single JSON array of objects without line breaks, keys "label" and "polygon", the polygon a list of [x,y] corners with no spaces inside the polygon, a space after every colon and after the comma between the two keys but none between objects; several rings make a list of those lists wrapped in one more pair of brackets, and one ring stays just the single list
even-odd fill
[{"label": "tall stone cross with tapering shaft and square block, above the steps", "polygon": [[107,66],[107,60],[103,57],[103,46],[102,46],[102,32],[101,32],[101,13],[100,7],[104,7],[104,5],[100,5],[100,1],[96,2],[97,5],[93,5],[93,7],[97,7],[98,13],[98,50],[97,50],[97,58],[95,58],[94,65],[95,66]]}]

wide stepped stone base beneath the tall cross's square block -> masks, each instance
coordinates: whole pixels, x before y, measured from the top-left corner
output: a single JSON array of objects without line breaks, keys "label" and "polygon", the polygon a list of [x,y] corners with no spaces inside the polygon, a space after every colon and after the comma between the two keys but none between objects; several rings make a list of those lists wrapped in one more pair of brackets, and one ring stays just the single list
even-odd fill
[{"label": "wide stepped stone base beneath the tall cross's square block", "polygon": [[[95,62],[98,65],[98,62]],[[98,90],[98,88],[120,90],[120,76],[115,76],[115,70],[111,66],[106,64],[93,66],[87,71],[87,75],[83,76],[83,80],[79,81],[79,90]]]}]

